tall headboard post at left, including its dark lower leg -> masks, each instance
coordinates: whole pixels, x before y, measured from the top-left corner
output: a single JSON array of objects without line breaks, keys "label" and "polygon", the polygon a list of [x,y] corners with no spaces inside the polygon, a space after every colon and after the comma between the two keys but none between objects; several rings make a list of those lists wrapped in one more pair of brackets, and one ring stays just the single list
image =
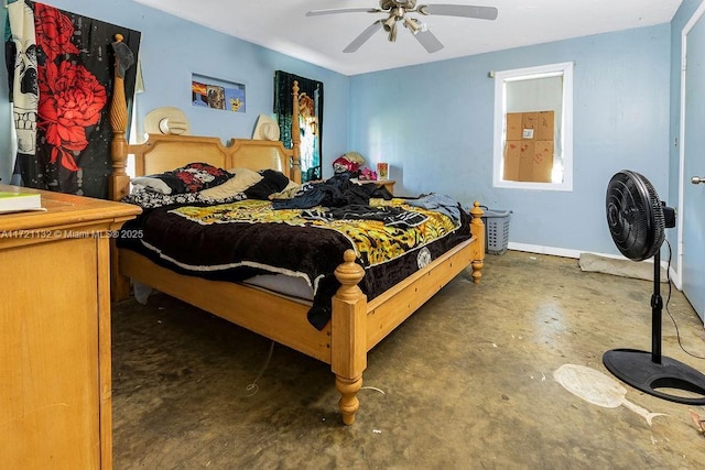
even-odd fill
[{"label": "tall headboard post at left, including its dark lower leg", "polygon": [[[116,34],[116,42],[122,42],[122,34]],[[128,105],[124,98],[124,79],[118,74],[118,56],[116,54],[113,70],[112,101],[110,102],[110,127],[112,142],[110,156],[112,173],[108,177],[108,198],[120,200],[130,188],[130,177],[124,171],[128,160],[128,141],[124,138],[128,127]],[[127,298],[130,295],[130,281],[120,274],[118,249],[115,239],[110,240],[110,297],[112,300]]]}]

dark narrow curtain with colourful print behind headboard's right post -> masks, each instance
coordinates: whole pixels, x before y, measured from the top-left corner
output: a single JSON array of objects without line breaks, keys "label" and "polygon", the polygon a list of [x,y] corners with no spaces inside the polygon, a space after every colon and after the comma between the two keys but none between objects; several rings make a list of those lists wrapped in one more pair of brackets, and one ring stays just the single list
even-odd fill
[{"label": "dark narrow curtain with colourful print behind headboard's right post", "polygon": [[323,83],[286,72],[274,73],[274,113],[281,140],[289,149],[291,142],[292,86],[299,81],[299,127],[301,129],[301,179],[321,179],[323,143]]}]

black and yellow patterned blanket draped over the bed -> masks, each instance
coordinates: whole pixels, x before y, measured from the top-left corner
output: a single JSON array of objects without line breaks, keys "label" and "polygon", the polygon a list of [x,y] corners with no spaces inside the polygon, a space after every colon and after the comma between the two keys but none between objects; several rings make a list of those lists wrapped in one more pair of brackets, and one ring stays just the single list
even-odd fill
[{"label": "black and yellow patterned blanket draped over the bed", "polygon": [[[243,200],[218,206],[147,209],[122,229],[118,247],[187,275],[243,281],[257,274],[306,280],[314,292],[311,324],[330,318],[339,284],[333,274],[354,249],[365,269],[360,288],[368,299],[392,287],[470,237],[469,215],[459,222],[441,212],[402,205],[427,220],[416,227],[380,220],[306,220],[301,210],[272,210],[271,203]],[[321,210],[324,214],[325,210]],[[142,238],[128,238],[140,233]]]}]

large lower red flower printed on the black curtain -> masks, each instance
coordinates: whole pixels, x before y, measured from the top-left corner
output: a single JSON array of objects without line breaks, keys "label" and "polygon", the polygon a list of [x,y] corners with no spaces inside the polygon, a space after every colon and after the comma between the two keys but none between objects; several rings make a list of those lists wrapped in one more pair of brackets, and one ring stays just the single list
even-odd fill
[{"label": "large lower red flower printed on the black curtain", "polygon": [[[53,145],[51,162],[61,156],[64,167],[76,171],[72,152],[88,145],[85,128],[100,121],[108,100],[106,88],[83,65],[62,62],[39,66],[39,123]],[[70,151],[70,152],[67,152]]]}]

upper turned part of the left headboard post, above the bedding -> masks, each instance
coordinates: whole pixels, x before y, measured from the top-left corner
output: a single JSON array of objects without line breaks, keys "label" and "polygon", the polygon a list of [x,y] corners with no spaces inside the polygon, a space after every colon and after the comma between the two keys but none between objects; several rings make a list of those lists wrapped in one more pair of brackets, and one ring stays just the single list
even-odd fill
[{"label": "upper turned part of the left headboard post, above the bedding", "polygon": [[[122,34],[115,35],[113,51],[118,44],[122,44]],[[119,47],[127,47],[122,45]],[[118,73],[119,56],[116,53],[113,70],[112,101],[110,102],[110,127],[112,129],[112,142],[110,156],[112,159],[112,173],[108,177],[108,198],[120,200],[128,194],[130,177],[126,172],[128,161],[128,141],[124,138],[128,128],[128,103],[124,98],[124,77]]]}]

